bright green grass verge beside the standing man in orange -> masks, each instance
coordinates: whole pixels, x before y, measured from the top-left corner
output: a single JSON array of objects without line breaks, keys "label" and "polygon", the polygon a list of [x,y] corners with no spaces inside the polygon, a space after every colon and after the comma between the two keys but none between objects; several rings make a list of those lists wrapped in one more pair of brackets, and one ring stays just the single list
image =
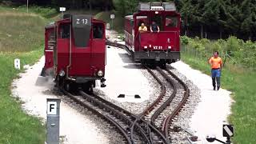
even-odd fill
[{"label": "bright green grass verge beside the standing man in orange", "polygon": [[[182,61],[195,69],[210,75],[207,61],[182,54]],[[256,143],[256,72],[232,66],[222,70],[222,87],[232,91],[234,103],[231,106],[230,123],[234,124],[234,143]]]}]

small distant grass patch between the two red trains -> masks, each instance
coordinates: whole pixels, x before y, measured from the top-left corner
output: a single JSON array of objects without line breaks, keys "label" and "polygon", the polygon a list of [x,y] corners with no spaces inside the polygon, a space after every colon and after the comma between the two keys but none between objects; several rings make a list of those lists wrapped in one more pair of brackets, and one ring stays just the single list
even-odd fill
[{"label": "small distant grass patch between the two red trains", "polygon": [[[112,20],[110,19],[110,14],[114,14],[114,20],[112,25]],[[124,21],[125,19],[122,17],[121,14],[118,14],[115,11],[103,11],[94,16],[94,18],[100,19],[106,23],[110,23],[110,29],[112,29],[112,26],[114,27],[114,30],[116,30],[119,34],[123,34],[123,27],[124,27]]]}]

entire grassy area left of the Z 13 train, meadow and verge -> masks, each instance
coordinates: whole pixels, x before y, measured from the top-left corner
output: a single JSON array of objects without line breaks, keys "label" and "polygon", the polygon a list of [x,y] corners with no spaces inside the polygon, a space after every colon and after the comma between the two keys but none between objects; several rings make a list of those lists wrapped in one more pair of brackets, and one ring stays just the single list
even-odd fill
[{"label": "entire grassy area left of the Z 13 train, meadow and verge", "polygon": [[26,114],[22,102],[11,95],[11,82],[24,70],[14,69],[14,58],[21,67],[33,64],[43,54],[44,26],[48,19],[0,6],[0,143],[43,143],[45,126],[38,118]]}]

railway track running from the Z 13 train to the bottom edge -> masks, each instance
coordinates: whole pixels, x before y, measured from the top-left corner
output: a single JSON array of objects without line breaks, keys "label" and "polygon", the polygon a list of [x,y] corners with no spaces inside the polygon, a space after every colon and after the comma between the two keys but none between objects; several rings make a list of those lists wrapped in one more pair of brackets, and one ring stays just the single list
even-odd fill
[{"label": "railway track running from the Z 13 train to the bottom edge", "polygon": [[126,143],[169,143],[162,131],[149,122],[95,94],[79,91],[79,94],[74,95],[66,90],[62,91],[80,106],[86,107],[115,126],[126,139]]}]

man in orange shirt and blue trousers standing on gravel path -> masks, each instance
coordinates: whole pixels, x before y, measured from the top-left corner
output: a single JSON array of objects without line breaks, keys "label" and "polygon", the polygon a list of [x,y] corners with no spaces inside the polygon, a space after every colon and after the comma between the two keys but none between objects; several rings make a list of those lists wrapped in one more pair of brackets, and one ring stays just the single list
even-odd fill
[{"label": "man in orange shirt and blue trousers standing on gravel path", "polygon": [[209,59],[209,63],[211,65],[211,78],[214,90],[216,90],[216,81],[217,90],[219,90],[221,86],[222,58],[218,57],[218,51],[214,51],[214,56]]}]

